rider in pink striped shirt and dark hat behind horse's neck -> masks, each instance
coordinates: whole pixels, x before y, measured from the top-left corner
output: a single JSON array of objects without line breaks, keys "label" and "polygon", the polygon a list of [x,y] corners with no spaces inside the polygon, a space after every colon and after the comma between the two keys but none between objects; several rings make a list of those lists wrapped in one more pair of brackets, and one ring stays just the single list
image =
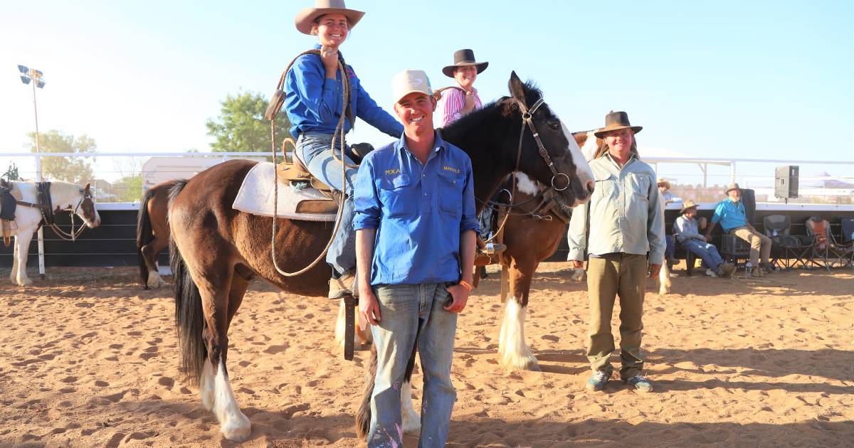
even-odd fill
[{"label": "rider in pink striped shirt and dark hat behind horse's neck", "polygon": [[453,66],[442,68],[442,73],[457,81],[456,87],[459,89],[442,92],[442,100],[436,107],[436,123],[439,126],[450,125],[466,113],[483,107],[474,84],[477,74],[486,70],[488,65],[489,62],[475,61],[475,53],[471,49],[460,49],[453,54]]}]

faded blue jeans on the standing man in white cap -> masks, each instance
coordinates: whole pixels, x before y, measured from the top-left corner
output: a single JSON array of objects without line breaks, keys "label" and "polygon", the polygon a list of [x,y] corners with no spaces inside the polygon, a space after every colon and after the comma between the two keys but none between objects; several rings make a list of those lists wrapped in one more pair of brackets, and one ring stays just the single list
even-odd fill
[{"label": "faded blue jeans on the standing man in white cap", "polygon": [[456,313],[442,306],[451,298],[444,283],[378,285],[379,325],[371,327],[377,347],[377,378],[371,395],[369,447],[403,446],[401,384],[418,337],[424,373],[418,446],[444,446],[457,393],[451,384]]}]

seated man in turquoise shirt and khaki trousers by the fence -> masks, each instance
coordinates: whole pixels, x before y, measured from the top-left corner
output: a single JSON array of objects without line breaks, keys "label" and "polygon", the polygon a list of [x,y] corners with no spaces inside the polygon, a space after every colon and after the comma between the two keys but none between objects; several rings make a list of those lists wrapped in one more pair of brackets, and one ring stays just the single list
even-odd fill
[{"label": "seated man in turquoise shirt and khaki trousers by the fence", "polygon": [[750,244],[750,263],[753,266],[751,271],[752,276],[763,276],[765,273],[773,272],[774,269],[768,262],[771,255],[771,239],[757,232],[747,222],[745,205],[741,202],[739,184],[733,183],[729,185],[726,194],[729,196],[728,199],[720,201],[717,204],[715,214],[711,217],[709,230],[705,231],[706,241],[709,241],[711,238],[711,230],[715,228],[715,224],[720,222],[724,233],[738,236]]}]

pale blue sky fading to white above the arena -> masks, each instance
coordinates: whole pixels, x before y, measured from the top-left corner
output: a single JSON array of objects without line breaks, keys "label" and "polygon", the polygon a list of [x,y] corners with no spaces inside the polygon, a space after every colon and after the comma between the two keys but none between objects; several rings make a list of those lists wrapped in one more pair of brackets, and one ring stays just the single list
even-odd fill
[{"label": "pale blue sky fading to white above the arena", "polygon": [[[227,94],[269,95],[314,44],[293,26],[312,0],[10,3],[0,6],[0,154],[23,150],[33,128],[16,64],[45,73],[42,130],[87,134],[102,152],[204,151],[204,122]],[[490,64],[476,84],[485,100],[506,95],[515,70],[572,130],[628,111],[644,126],[641,154],[854,160],[850,0],[348,6],[367,14],[342,51],[388,110],[395,73],[423,68],[447,85],[441,68],[471,48]],[[349,141],[389,140],[369,128]]]}]

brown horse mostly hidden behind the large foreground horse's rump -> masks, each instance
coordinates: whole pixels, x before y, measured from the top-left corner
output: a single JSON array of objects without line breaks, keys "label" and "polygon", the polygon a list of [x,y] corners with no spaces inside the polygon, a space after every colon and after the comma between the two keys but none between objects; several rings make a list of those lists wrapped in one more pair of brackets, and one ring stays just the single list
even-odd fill
[{"label": "brown horse mostly hidden behind the large foreground horse's rump", "polygon": [[137,214],[137,255],[139,280],[144,289],[166,285],[157,270],[157,255],[169,246],[169,190],[180,181],[170,180],[151,187],[139,201]]}]

